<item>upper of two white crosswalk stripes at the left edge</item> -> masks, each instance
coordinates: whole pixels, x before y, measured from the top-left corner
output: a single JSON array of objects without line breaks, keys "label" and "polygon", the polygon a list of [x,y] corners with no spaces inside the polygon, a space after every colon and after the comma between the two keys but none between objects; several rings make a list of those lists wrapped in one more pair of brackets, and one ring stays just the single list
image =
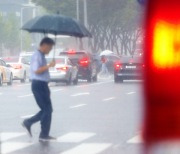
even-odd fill
[{"label": "upper of two white crosswalk stripes at the left edge", "polygon": [[5,133],[5,132],[3,132],[3,133],[0,133],[0,141],[4,142],[4,141],[14,139],[17,137],[21,137],[24,135],[26,135],[26,133],[11,133],[11,132]]}]

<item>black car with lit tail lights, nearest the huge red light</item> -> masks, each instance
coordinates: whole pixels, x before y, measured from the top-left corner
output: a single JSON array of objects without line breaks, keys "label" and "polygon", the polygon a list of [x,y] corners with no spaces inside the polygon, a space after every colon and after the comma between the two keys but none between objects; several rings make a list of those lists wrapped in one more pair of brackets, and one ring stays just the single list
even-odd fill
[{"label": "black car with lit tail lights, nearest the huge red light", "polygon": [[142,80],[144,67],[142,57],[121,57],[114,63],[114,82]]}]

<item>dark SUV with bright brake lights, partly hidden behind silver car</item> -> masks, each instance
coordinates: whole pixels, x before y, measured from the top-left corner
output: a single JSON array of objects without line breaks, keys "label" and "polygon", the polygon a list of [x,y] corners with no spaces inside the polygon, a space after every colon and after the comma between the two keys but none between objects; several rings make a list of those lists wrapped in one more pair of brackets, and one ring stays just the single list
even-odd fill
[{"label": "dark SUV with bright brake lights, partly hidden behind silver car", "polygon": [[60,56],[67,56],[74,65],[78,66],[78,79],[97,82],[97,66],[91,53],[86,51],[63,51]]}]

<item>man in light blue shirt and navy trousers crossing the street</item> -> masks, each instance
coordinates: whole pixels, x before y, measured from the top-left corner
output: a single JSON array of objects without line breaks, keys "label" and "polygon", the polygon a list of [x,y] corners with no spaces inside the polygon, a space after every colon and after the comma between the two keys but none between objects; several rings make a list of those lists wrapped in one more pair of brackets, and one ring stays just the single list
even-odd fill
[{"label": "man in light blue shirt and navy trousers crossing the street", "polygon": [[54,67],[55,62],[52,61],[50,64],[47,64],[45,59],[45,55],[49,54],[54,44],[55,42],[52,39],[44,38],[40,43],[39,50],[34,53],[31,59],[32,92],[40,111],[35,116],[24,120],[22,125],[32,137],[31,126],[40,121],[41,133],[39,141],[55,140],[55,138],[49,136],[53,109],[48,87],[50,79],[49,68]]}]

